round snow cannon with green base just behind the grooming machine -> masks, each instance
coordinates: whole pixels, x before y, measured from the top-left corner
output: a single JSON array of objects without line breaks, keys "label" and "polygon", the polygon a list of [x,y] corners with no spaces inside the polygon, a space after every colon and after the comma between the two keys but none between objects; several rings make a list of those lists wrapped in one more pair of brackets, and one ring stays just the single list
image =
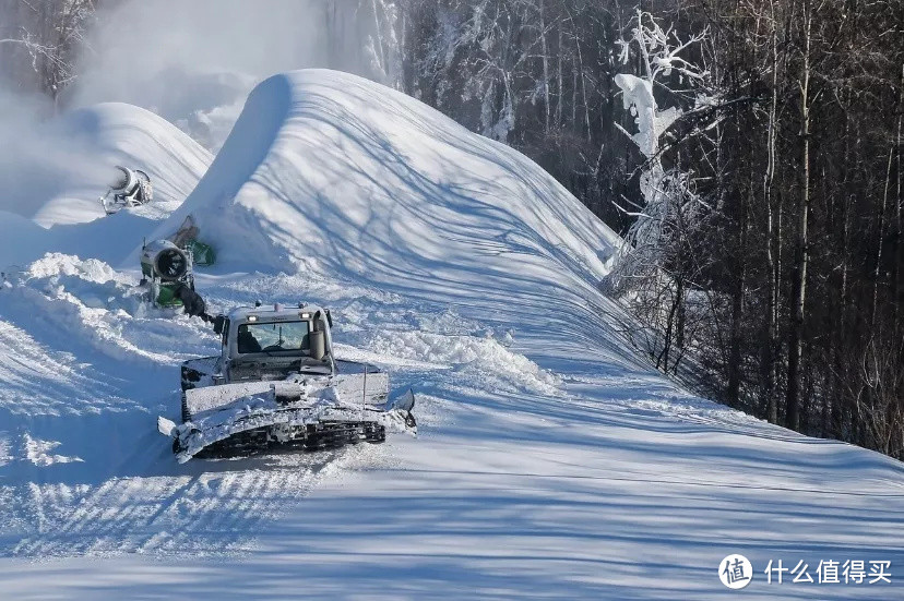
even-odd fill
[{"label": "round snow cannon with green base just behind the grooming machine", "polygon": [[141,249],[142,286],[150,288],[147,300],[154,306],[182,306],[176,290],[187,286],[194,290],[191,251],[169,240],[157,240]]}]

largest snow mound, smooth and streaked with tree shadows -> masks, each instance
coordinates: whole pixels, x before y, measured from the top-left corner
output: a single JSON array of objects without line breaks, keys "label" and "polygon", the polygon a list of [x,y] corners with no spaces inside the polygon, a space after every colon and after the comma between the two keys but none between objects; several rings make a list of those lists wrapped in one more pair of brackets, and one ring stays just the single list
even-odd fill
[{"label": "largest snow mound, smooth and streaked with tree shadows", "polygon": [[[191,196],[222,269],[334,277],[406,297],[597,297],[618,237],[533,161],[354,75],[273,76]],[[484,305],[491,310],[492,306]]]}]

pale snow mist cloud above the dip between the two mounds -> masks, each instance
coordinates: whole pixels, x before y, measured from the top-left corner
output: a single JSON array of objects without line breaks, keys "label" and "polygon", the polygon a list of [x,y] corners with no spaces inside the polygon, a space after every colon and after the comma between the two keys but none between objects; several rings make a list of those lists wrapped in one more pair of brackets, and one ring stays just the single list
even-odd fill
[{"label": "pale snow mist cloud above the dip between the two mounds", "polygon": [[[127,0],[98,15],[70,105],[146,108],[216,152],[250,89],[278,72],[347,69],[357,0]],[[336,44],[336,32],[352,32]],[[360,46],[360,40],[357,40]]]}]

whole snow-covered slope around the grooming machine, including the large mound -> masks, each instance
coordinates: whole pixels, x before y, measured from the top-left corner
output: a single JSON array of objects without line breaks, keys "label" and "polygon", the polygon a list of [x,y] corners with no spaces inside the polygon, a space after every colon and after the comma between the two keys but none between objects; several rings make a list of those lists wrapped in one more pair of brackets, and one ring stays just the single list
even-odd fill
[{"label": "whole snow-covered slope around the grooming machine, including the large mound", "polygon": [[[418,438],[176,464],[155,417],[217,342],[132,285],[141,237],[188,215],[212,309],[330,306],[341,357],[415,390]],[[598,292],[618,237],[417,100],[271,77],[186,201],[117,233],[135,217],[102,220],[119,256],[86,236],[0,288],[0,597],[724,599],[730,553],[748,598],[902,597],[902,465],[657,374]],[[768,585],[770,560],[892,584]]]}]

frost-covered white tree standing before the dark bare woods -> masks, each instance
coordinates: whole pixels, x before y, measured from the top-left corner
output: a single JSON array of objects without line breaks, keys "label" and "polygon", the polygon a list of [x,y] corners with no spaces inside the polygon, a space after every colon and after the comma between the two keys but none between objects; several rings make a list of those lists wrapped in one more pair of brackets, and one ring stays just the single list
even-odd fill
[{"label": "frost-covered white tree standing before the dark bare woods", "polygon": [[619,40],[619,58],[622,64],[635,59],[639,73],[619,73],[615,83],[637,131],[630,133],[620,125],[619,129],[645,163],[639,178],[641,202],[633,203],[633,209],[623,209],[634,221],[606,285],[615,293],[629,293],[642,320],[661,334],[651,338],[646,350],[656,357],[657,366],[668,370],[677,365],[669,364],[673,344],[685,346],[687,295],[697,271],[689,253],[709,207],[697,192],[690,171],[665,165],[667,134],[685,111],[675,105],[661,106],[656,93],[674,101],[676,84],[690,84],[692,109],[712,104],[707,71],[682,56],[705,38],[706,31],[681,39],[674,29],[663,28],[652,14],[641,10],[629,27],[627,39]]}]

